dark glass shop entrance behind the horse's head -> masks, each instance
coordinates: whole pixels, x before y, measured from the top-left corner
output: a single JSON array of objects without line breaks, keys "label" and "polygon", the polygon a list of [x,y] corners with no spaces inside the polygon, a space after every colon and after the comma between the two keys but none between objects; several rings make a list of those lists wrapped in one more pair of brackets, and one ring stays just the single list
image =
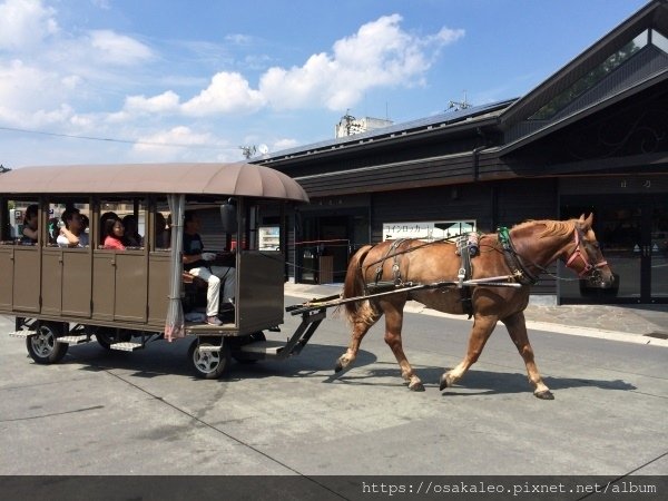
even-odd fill
[{"label": "dark glass shop entrance behind the horse's head", "polygon": [[[562,218],[593,213],[595,232],[610,268],[612,291],[561,282],[562,303],[668,303],[668,196],[562,196]],[[570,276],[562,271],[562,277]]]}]

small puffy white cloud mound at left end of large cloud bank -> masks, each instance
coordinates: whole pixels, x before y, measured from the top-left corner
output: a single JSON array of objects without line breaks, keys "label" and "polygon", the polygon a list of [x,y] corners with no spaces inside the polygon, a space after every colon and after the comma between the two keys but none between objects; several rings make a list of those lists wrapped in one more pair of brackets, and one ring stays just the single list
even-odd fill
[{"label": "small puffy white cloud mound at left end of large cloud bank", "polygon": [[253,90],[239,73],[219,72],[210,85],[187,102],[181,109],[196,117],[218,114],[252,112],[265,105],[265,99]]}]

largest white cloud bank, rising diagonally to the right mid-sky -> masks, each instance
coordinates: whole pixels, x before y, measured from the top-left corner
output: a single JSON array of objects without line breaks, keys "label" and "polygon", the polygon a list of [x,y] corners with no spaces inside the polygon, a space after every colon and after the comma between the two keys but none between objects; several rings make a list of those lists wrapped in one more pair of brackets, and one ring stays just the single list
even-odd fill
[{"label": "largest white cloud bank, rising diagonally to the right mid-sky", "polygon": [[[180,112],[194,117],[247,114],[266,106],[277,110],[342,110],[357,104],[374,87],[421,85],[439,50],[463,37],[464,31],[443,28],[421,38],[402,30],[401,21],[399,14],[384,16],[336,41],[332,53],[313,55],[301,67],[269,68],[261,77],[258,89],[237,72],[218,72],[206,89],[180,105]],[[131,99],[137,108],[149,111],[148,101],[157,98]],[[171,99],[168,109],[156,112],[176,112],[177,101]]]}]

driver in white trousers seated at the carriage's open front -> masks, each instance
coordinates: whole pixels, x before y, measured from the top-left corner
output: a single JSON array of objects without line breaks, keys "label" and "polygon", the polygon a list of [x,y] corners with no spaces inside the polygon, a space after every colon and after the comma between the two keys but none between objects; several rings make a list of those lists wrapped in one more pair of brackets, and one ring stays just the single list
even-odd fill
[{"label": "driver in white trousers seated at the carriage's open front", "polygon": [[212,266],[207,261],[213,261],[215,255],[204,252],[204,244],[199,236],[200,220],[195,213],[186,210],[184,215],[184,269],[194,276],[208,282],[206,294],[206,323],[222,325],[218,318],[220,303],[220,282],[223,286],[223,311],[234,310],[234,293],[236,287],[236,273],[234,267]]}]

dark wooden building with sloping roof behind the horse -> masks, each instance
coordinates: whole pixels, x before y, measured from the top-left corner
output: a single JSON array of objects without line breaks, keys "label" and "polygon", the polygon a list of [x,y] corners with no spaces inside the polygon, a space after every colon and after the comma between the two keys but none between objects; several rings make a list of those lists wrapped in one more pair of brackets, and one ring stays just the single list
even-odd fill
[{"label": "dark wooden building with sloping roof behind the horse", "polygon": [[[293,258],[317,268],[316,256],[328,256],[332,271],[321,282],[341,281],[350,253],[382,240],[389,228],[395,235],[451,225],[493,232],[593,212],[619,288],[583,289],[554,266],[534,292],[560,303],[666,303],[668,2],[648,2],[519,99],[258,163],[307,190],[312,204],[296,217]],[[295,279],[318,277],[297,267]]]}]

